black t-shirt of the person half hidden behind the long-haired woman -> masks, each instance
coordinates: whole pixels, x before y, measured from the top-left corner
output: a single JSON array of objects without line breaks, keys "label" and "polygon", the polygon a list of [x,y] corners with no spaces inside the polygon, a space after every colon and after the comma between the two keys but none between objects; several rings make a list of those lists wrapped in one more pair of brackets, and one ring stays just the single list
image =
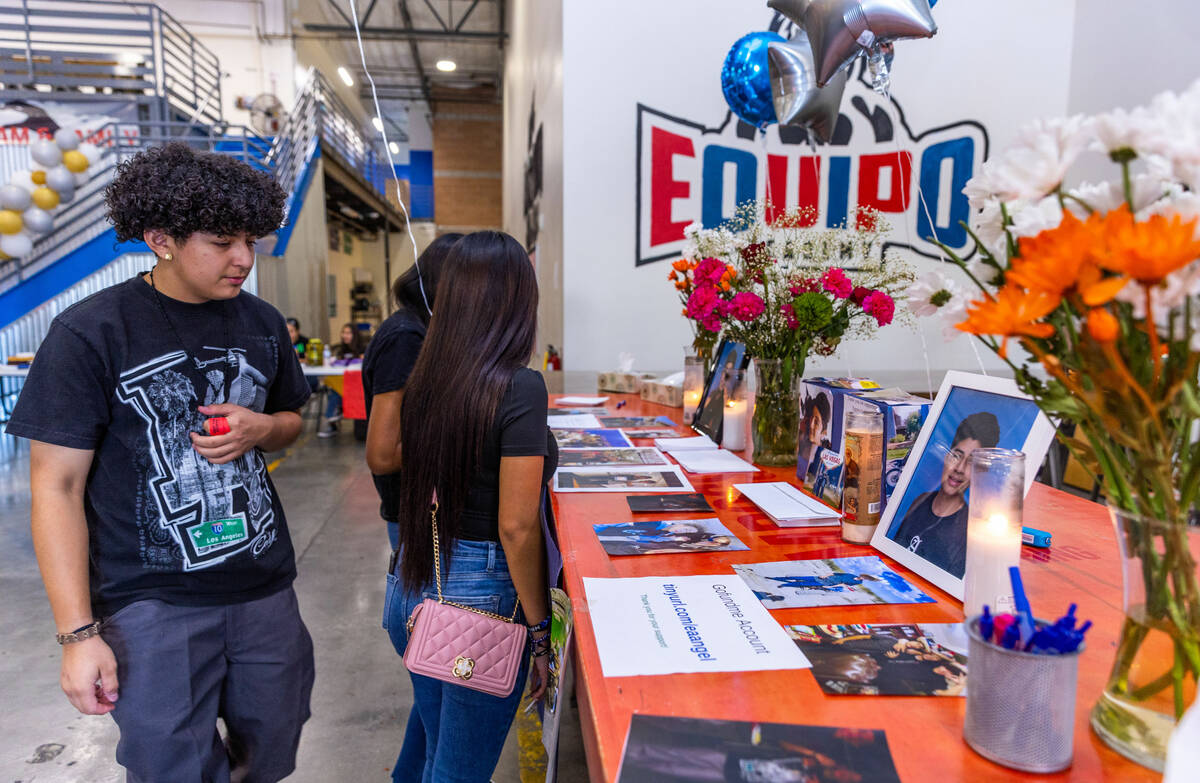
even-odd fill
[{"label": "black t-shirt of the person half hidden behind the long-haired woman", "polygon": [[[362,396],[371,419],[374,395],[398,392],[408,383],[425,342],[425,324],[403,307],[379,324],[362,357]],[[374,476],[379,491],[379,515],[395,522],[400,514],[400,473]]]}]

